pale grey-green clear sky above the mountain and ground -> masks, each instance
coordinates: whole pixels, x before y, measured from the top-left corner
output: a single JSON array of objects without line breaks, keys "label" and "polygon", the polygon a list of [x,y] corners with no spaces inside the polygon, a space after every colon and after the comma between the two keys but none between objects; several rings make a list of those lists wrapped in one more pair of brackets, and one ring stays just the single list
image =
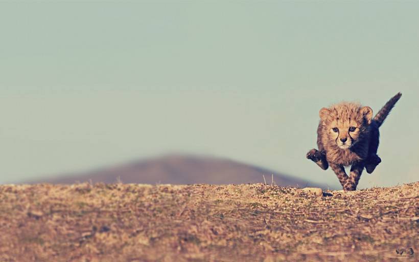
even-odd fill
[{"label": "pale grey-green clear sky above the mountain and ground", "polygon": [[184,153],[338,187],[305,158],[318,111],[376,113],[383,162],[418,180],[419,2],[0,2],[0,183]]}]

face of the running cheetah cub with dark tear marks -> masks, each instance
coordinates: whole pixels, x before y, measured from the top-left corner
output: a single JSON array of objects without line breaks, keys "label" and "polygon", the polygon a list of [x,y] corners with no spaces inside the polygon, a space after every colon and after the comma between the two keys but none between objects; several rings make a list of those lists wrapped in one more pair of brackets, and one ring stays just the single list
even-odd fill
[{"label": "face of the running cheetah cub with dark tear marks", "polygon": [[331,108],[321,108],[320,119],[327,130],[325,141],[337,145],[340,149],[348,149],[368,135],[373,110],[368,106],[341,104]]}]

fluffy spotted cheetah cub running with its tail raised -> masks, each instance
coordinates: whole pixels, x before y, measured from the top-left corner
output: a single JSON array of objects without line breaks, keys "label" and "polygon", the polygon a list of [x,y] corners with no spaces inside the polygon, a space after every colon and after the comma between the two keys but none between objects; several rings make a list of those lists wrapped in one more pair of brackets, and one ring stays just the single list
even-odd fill
[{"label": "fluffy spotted cheetah cub running with its tail raised", "polygon": [[[398,93],[392,97],[374,118],[370,107],[357,103],[342,102],[321,108],[317,128],[318,150],[311,149],[306,157],[323,170],[330,165],[343,190],[356,190],[364,167],[372,173],[381,162],[377,156],[378,129],[401,96]],[[344,166],[350,165],[348,177]]]}]

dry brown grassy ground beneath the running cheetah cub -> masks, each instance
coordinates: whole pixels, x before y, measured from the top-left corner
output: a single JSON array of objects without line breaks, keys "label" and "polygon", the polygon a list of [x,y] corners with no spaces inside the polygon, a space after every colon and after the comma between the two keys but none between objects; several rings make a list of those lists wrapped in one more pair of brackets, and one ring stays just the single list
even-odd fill
[{"label": "dry brown grassy ground beneath the running cheetah cub", "polygon": [[3,185],[0,261],[419,261],[418,193]]}]

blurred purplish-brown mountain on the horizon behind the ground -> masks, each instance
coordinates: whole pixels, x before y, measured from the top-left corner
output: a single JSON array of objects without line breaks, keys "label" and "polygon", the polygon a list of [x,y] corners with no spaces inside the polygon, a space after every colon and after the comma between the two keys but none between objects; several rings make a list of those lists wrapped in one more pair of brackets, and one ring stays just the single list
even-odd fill
[{"label": "blurred purplish-brown mountain on the horizon behind the ground", "polygon": [[273,181],[277,185],[327,188],[260,167],[214,157],[170,155],[133,161],[86,173],[69,174],[31,183],[73,184],[75,182],[139,183],[139,184],[247,184]]}]

